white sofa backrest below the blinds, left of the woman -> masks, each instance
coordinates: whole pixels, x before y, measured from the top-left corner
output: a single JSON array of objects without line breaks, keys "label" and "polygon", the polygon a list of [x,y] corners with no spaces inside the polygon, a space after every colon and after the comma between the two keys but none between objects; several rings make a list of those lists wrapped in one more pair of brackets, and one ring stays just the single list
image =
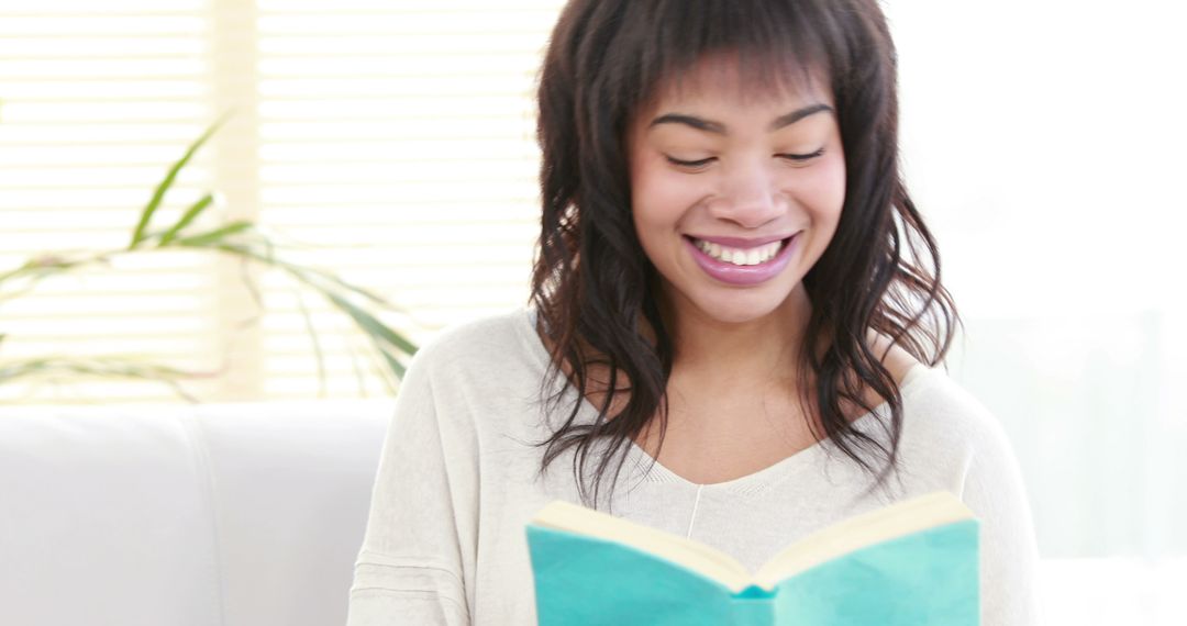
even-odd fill
[{"label": "white sofa backrest below the blinds, left of the woman", "polygon": [[0,407],[0,625],[344,624],[393,407]]}]

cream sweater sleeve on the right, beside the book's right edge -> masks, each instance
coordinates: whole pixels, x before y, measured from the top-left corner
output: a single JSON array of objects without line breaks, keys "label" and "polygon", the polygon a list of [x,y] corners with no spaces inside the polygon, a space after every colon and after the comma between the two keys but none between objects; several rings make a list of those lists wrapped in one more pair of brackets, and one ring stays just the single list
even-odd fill
[{"label": "cream sweater sleeve on the right, beside the book's right edge", "polygon": [[1037,626],[1039,551],[1022,472],[1002,426],[983,415],[964,484],[964,502],[982,520],[982,626]]}]

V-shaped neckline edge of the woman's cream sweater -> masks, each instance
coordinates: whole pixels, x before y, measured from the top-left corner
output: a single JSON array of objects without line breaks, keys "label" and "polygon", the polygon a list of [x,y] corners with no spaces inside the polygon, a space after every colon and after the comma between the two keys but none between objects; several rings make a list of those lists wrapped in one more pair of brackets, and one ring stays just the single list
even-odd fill
[{"label": "V-shaped neckline edge of the woman's cream sweater", "polygon": [[[523,315],[522,319],[525,324],[520,325],[520,331],[526,333],[522,338],[529,346],[531,352],[535,356],[535,359],[540,365],[541,373],[546,372],[551,357],[547,347],[540,339],[540,336],[537,334],[537,311],[534,308],[527,308],[526,315]],[[907,370],[907,375],[903,376],[903,381],[900,384],[900,394],[902,395],[904,405],[908,390],[913,391],[916,384],[931,371],[932,370],[922,363],[915,363]],[[566,387],[566,392],[577,395],[576,389],[573,389],[572,385],[570,385],[563,377],[558,377],[557,384]],[[577,396],[576,400],[579,403],[576,421],[586,424],[594,423],[598,415],[597,408],[584,397]],[[874,410],[867,411],[850,423],[858,430],[869,434],[868,429],[872,426],[871,422],[876,422],[883,414],[887,415],[887,419],[889,419],[889,402],[882,402],[875,407]],[[702,494],[751,494],[774,484],[777,479],[787,475],[793,468],[805,466],[806,464],[813,464],[820,454],[832,452],[832,448],[837,448],[836,442],[833,442],[832,439],[824,439],[756,472],[721,483],[707,484],[693,483],[692,480],[688,480],[665,467],[664,464],[659,462],[654,456],[648,454],[642,447],[635,443],[634,440],[629,440],[628,442],[627,456],[635,471],[642,474],[641,480],[645,483],[678,486],[685,490],[700,491]]]}]

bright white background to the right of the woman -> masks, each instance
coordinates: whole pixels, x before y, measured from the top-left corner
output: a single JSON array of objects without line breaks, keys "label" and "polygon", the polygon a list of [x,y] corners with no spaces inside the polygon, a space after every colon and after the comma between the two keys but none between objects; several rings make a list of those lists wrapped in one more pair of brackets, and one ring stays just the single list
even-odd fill
[{"label": "bright white background to the right of the woman", "polygon": [[1050,624],[1187,622],[1187,8],[886,8],[952,371],[1023,466]]}]

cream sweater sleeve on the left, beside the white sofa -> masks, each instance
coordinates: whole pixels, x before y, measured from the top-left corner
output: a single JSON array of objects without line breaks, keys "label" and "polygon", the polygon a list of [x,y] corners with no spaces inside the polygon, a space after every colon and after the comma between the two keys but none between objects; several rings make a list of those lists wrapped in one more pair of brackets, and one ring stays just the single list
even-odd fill
[{"label": "cream sweater sleeve on the left, beside the white sofa", "polygon": [[476,453],[439,415],[418,352],[400,385],[355,562],[348,626],[468,626]]}]

